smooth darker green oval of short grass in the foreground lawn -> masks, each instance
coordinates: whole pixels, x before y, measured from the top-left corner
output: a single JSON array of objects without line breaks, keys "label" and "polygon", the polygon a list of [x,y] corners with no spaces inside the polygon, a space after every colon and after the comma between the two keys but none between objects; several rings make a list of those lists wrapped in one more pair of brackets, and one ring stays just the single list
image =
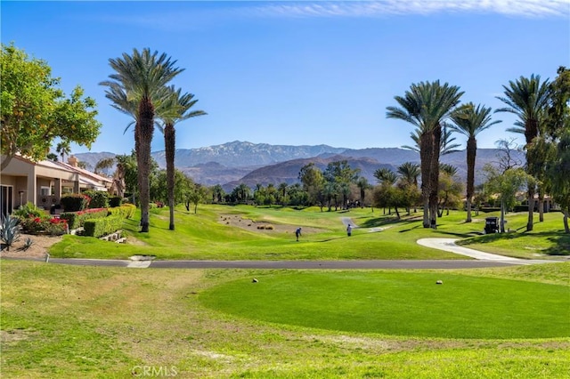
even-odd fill
[{"label": "smooth darker green oval of short grass in the foreground lawn", "polygon": [[[398,271],[294,272],[258,280],[226,283],[201,294],[200,300],[249,319],[349,332],[445,338],[570,336],[568,286]],[[444,285],[436,285],[436,280]]]}]

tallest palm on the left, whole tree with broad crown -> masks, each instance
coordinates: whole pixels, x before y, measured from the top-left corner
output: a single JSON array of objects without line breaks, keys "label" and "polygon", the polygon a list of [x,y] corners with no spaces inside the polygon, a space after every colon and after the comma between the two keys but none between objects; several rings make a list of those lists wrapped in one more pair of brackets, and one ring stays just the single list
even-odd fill
[{"label": "tallest palm on the left, whole tree with broad crown", "polygon": [[[167,54],[151,52],[145,48],[142,52],[133,49],[133,54],[123,53],[122,57],[110,59],[110,67],[115,74],[111,80],[102,82],[110,88],[111,94],[124,93],[128,107],[136,104],[134,111],[134,149],[138,165],[138,184],[141,200],[141,231],[149,231],[149,201],[150,201],[150,170],[151,170],[151,141],[154,131],[155,109],[169,94],[167,83],[183,69],[175,67],[175,60]],[[109,96],[108,96],[109,97]],[[115,104],[120,108],[126,104]],[[132,112],[133,109],[126,109]]]}]

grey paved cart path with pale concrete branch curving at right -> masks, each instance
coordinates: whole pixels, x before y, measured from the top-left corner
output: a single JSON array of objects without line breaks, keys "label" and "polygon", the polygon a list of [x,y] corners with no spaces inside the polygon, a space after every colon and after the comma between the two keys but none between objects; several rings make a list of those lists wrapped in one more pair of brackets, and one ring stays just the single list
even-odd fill
[{"label": "grey paved cart path with pale concrete branch curving at right", "polygon": [[455,244],[453,238],[422,238],[419,245],[441,249],[455,254],[467,255],[475,260],[431,260],[431,261],[140,261],[140,260],[99,260],[49,258],[32,259],[50,263],[72,264],[80,266],[113,266],[125,268],[151,269],[473,269],[482,267],[501,267],[534,263],[553,263],[510,258],[488,254]]}]

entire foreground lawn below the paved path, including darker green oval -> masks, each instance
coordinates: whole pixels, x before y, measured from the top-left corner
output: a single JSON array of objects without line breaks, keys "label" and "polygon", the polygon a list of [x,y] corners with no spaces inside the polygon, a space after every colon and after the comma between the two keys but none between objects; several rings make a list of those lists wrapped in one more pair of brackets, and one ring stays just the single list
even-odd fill
[{"label": "entire foreground lawn below the paved path, including darker green oval", "polygon": [[[163,376],[175,369],[183,378],[566,378],[570,372],[570,262],[453,271],[0,262],[3,378],[127,378],[142,367],[162,367]],[[436,286],[440,278],[444,285]],[[437,294],[433,305],[429,294]],[[253,310],[241,306],[236,314],[232,296]],[[265,302],[281,313],[270,315]],[[434,314],[429,307],[437,303]],[[516,317],[504,327],[508,304]],[[391,318],[392,326],[377,318]],[[474,322],[484,330],[468,327]]]}]

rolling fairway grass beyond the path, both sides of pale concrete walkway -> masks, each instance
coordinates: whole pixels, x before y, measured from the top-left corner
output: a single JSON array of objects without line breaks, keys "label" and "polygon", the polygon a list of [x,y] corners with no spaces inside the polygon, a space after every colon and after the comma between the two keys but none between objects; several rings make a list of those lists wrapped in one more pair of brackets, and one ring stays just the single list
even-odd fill
[{"label": "rolling fairway grass beyond the path, both sides of pale concrete walkway", "polygon": [[[245,230],[221,222],[231,214],[245,220],[287,225],[289,231]],[[469,259],[419,246],[419,238],[459,238],[471,247],[495,254],[525,259],[550,259],[550,254],[568,252],[570,241],[562,231],[559,213],[545,215],[535,230],[524,233],[526,214],[509,214],[509,228],[516,233],[480,236],[485,217],[479,214],[466,223],[465,213],[452,211],[438,220],[437,230],[424,229],[421,214],[395,216],[381,209],[356,208],[350,211],[321,212],[318,207],[295,210],[281,207],[200,206],[198,214],[176,208],[176,230],[168,230],[167,208],[151,210],[150,233],[139,233],[137,214],[124,223],[129,244],[113,244],[96,238],[64,236],[53,246],[54,257],[128,259],[134,254],[156,255],[159,260],[359,260],[359,259]],[[342,218],[360,228],[347,238]],[[538,219],[538,216],[536,217]],[[293,228],[305,233],[297,243]],[[379,231],[381,230],[381,231]],[[375,232],[371,232],[375,231]],[[567,248],[568,247],[568,248]],[[559,257],[559,255],[558,255]]]}]

